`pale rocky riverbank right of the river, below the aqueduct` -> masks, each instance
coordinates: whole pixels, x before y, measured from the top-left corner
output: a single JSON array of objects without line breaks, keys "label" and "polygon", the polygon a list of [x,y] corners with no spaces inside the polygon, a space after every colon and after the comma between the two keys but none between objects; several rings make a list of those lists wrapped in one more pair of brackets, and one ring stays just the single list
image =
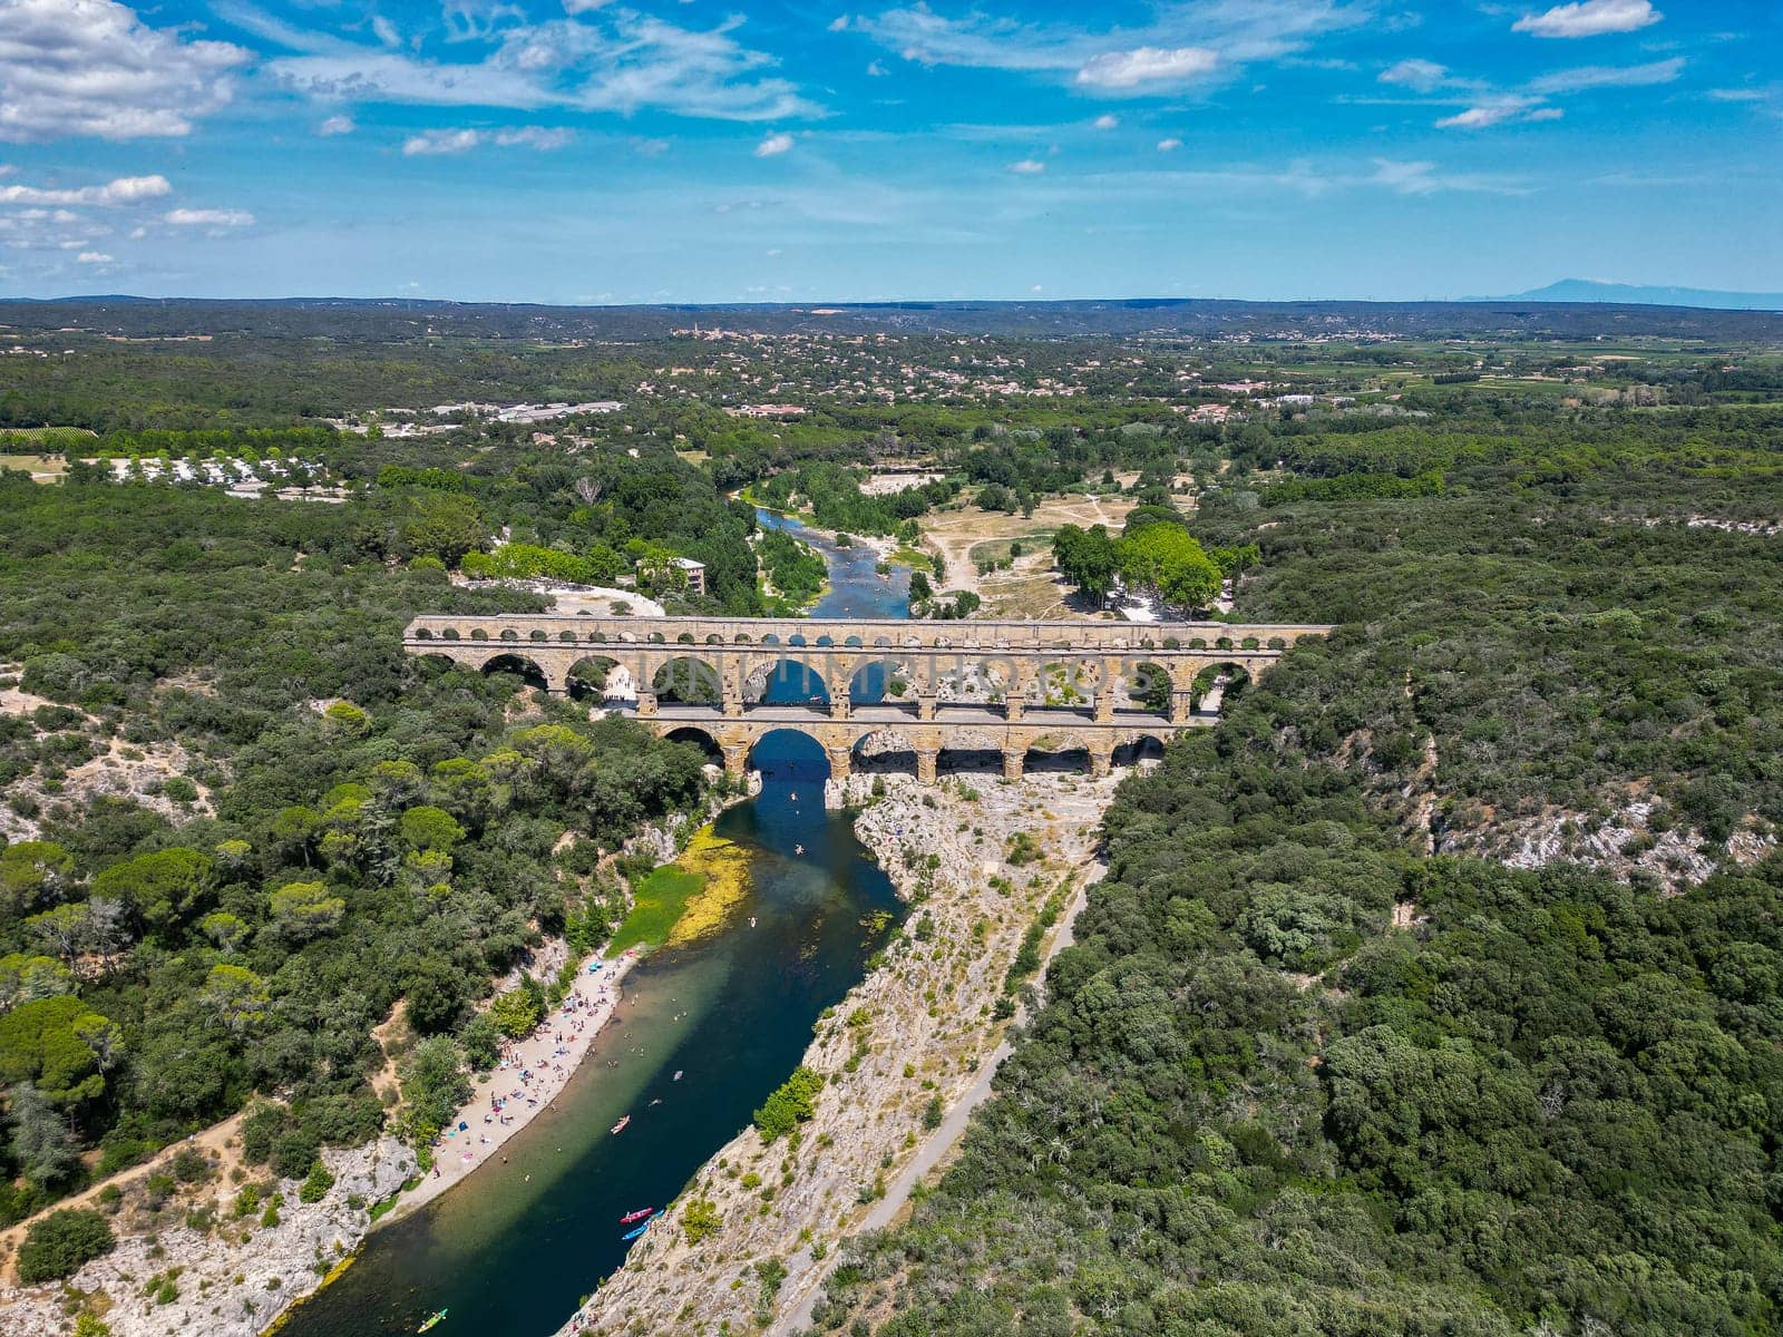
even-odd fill
[{"label": "pale rocky riverbank right of the river, below the aqueduct", "polygon": [[731,1139],[563,1332],[745,1332],[799,1305],[979,1080],[1007,1025],[1009,964],[1047,900],[1093,868],[1116,783],[850,779],[856,834],[911,913],[818,1021],[811,1118],[776,1141],[754,1127]]}]

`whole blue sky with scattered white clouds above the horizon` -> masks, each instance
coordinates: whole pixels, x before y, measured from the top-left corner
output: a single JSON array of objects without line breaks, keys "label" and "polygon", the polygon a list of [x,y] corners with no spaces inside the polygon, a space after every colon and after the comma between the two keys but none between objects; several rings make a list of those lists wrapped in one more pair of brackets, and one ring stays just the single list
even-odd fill
[{"label": "whole blue sky with scattered white clouds above the horizon", "polygon": [[0,291],[1783,291],[1776,0],[0,0]]}]

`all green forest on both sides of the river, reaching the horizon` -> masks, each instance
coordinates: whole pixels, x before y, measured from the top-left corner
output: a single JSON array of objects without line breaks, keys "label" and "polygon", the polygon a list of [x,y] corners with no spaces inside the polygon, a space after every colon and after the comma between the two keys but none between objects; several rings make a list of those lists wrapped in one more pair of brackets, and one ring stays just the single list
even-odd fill
[{"label": "all green forest on both sides of the river, reaching the horizon", "polygon": [[[91,428],[94,455],[278,451],[337,488],[0,471],[0,690],[30,693],[0,713],[0,1221],[239,1109],[291,1177],[392,1118],[424,1143],[496,1018],[553,986],[480,1013],[494,980],[544,936],[599,943],[599,856],[706,800],[688,747],[405,658],[414,613],[538,610],[531,576],[763,613],[822,570],[751,499],[911,544],[938,512],[1093,492],[1139,504],[1056,531],[1082,592],[1205,606],[1230,579],[1236,617],[1337,631],[1125,781],[998,1095],[911,1219],[845,1248],[818,1328],[1779,1326],[1774,349],[587,348],[526,342],[558,317],[519,308],[469,335],[360,312],[312,337],[325,316],[78,335],[0,394],[0,426]],[[974,358],[1027,392],[959,389]],[[954,380],[911,398],[911,367]],[[1221,389],[1243,378],[1303,394]],[[806,412],[727,412],[765,387]],[[546,431],[317,421],[608,396]],[[883,462],[936,481],[863,492]],[[982,615],[945,585],[918,572],[913,610]],[[132,767],[132,797],[91,784]]]}]

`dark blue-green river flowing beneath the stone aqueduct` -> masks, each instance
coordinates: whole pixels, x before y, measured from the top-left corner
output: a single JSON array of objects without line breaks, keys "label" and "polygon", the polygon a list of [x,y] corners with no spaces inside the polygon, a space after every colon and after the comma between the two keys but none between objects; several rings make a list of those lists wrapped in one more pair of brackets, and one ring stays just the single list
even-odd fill
[{"label": "dark blue-green river flowing beneath the stone aqueduct", "polygon": [[[904,615],[908,576],[881,579],[870,547],[758,513],[829,563],[815,615]],[[802,683],[768,685],[768,701],[801,693]],[[508,1143],[506,1162],[374,1232],[282,1337],[396,1337],[439,1308],[449,1310],[439,1337],[546,1337],[624,1260],[619,1218],[672,1200],[797,1066],[818,1013],[859,982],[902,906],[850,824],[824,811],[815,743],[770,734],[756,765],[761,793],[717,822],[751,859],[751,895],[729,927],[640,963],[581,1070]],[[631,1125],[615,1137],[622,1114]]]}]

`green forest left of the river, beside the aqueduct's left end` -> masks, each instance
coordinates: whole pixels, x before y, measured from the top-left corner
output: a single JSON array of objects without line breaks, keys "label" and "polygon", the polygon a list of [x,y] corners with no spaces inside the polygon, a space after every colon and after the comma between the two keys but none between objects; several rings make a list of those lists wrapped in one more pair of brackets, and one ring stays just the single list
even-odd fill
[{"label": "green forest left of the river, beside the aqueduct's left end", "polygon": [[[0,476],[0,683],[57,702],[0,715],[11,816],[41,825],[0,845],[0,1219],[255,1091],[289,1103],[255,1125],[280,1173],[362,1141],[390,1005],[444,1071],[487,1062],[489,980],[544,932],[599,941],[599,850],[701,800],[692,749],[403,658],[415,611],[537,606],[446,583],[480,524],[424,488],[328,506]],[[166,758],[160,802],[75,800],[96,758]],[[417,1144],[439,1073],[408,1070]]]}]

